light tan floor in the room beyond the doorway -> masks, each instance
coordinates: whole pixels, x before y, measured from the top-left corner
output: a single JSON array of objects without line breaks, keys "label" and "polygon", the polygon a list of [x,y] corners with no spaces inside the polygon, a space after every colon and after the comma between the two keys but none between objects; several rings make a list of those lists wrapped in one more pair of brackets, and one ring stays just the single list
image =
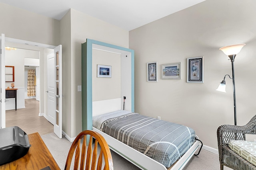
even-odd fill
[{"label": "light tan floor in the room beyond the doorway", "polygon": [[6,127],[18,126],[27,134],[38,132],[41,136],[53,133],[53,125],[44,116],[38,116],[39,101],[26,99],[25,107],[6,110]]}]

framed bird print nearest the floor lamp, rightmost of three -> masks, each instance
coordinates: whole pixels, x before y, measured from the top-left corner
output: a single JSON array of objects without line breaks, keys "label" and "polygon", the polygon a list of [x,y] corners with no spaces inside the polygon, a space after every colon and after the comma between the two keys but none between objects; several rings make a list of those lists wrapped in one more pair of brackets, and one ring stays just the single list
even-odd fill
[{"label": "framed bird print nearest the floor lamp, rightmost of three", "polygon": [[192,57],[187,59],[187,82],[204,82],[204,56]]}]

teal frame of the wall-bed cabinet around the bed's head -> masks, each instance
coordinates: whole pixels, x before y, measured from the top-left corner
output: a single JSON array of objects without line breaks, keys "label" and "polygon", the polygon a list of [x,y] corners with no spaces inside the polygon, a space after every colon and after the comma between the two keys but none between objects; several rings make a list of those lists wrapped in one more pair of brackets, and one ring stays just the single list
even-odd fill
[{"label": "teal frame of the wall-bed cabinet around the bed's head", "polygon": [[92,130],[92,49],[98,47],[112,48],[131,55],[131,111],[134,111],[134,50],[124,47],[86,39],[82,43],[82,130]]}]

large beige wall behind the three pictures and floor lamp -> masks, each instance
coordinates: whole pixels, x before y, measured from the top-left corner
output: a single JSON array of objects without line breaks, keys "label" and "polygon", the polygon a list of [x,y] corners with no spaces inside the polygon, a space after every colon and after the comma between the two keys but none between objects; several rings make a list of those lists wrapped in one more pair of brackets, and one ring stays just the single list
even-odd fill
[{"label": "large beige wall behind the three pictures and floor lamp", "polygon": [[[246,43],[234,65],[237,124],[247,123],[256,113],[255,6],[253,0],[207,0],[130,31],[135,111],[192,127],[204,145],[217,149],[217,128],[234,124],[232,80],[226,78],[227,93],[215,90],[225,74],[232,76],[231,62],[219,48]],[[204,56],[204,83],[187,83],[186,60],[199,56]],[[158,61],[158,82],[146,80],[146,63],[152,61]],[[177,62],[181,80],[161,79],[161,64]]]}]

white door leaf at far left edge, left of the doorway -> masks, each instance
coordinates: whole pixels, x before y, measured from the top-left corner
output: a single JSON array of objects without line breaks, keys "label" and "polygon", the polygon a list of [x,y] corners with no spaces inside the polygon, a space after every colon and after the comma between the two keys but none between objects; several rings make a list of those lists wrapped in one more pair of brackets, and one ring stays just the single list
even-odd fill
[{"label": "white door leaf at far left edge, left of the doorway", "polygon": [[1,97],[0,97],[0,129],[5,128],[5,38],[4,34],[1,35],[0,38],[0,75],[1,75]]}]

